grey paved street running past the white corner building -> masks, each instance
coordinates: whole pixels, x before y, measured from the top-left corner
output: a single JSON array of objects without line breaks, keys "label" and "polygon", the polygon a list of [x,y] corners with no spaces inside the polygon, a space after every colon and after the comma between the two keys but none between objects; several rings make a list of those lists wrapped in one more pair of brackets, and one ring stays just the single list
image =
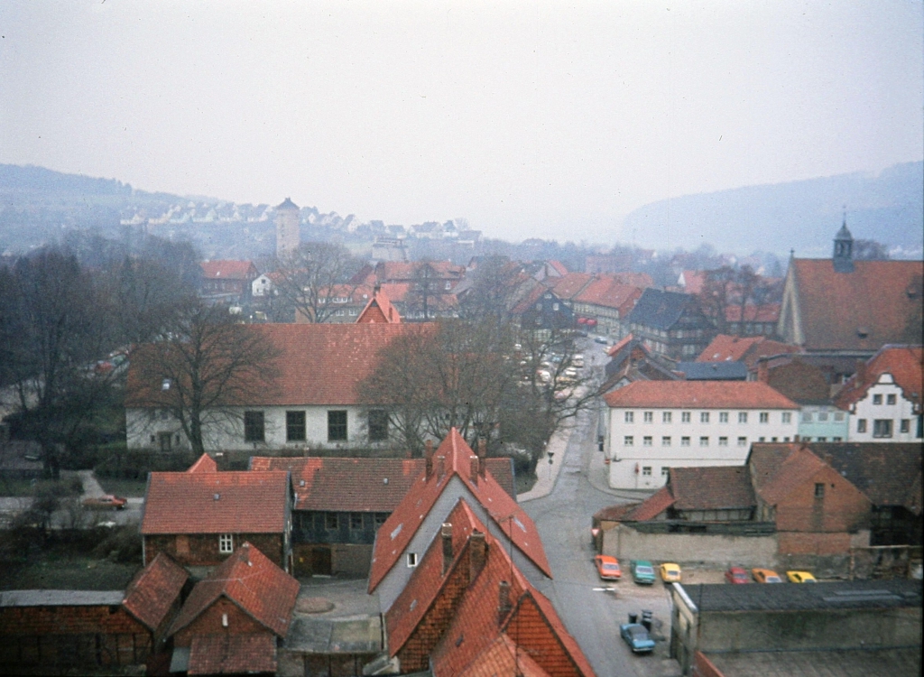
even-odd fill
[{"label": "grey paved street running past the white corner building", "polygon": [[[600,369],[602,346],[587,351]],[[542,593],[549,597],[568,631],[590,660],[600,677],[638,675],[669,677],[680,674],[679,665],[667,659],[670,608],[663,585],[641,587],[631,579],[614,585],[615,592],[601,585],[593,567],[590,517],[608,505],[624,502],[606,483],[606,466],[597,450],[597,412],[584,412],[564,435],[549,445],[553,464],[539,464],[537,486],[519,497],[523,508],[535,520],[554,575]],[[624,562],[624,569],[627,569]],[[628,613],[650,609],[655,617],[654,655],[633,656],[619,638],[619,624]],[[659,622],[663,625],[659,628]]]}]

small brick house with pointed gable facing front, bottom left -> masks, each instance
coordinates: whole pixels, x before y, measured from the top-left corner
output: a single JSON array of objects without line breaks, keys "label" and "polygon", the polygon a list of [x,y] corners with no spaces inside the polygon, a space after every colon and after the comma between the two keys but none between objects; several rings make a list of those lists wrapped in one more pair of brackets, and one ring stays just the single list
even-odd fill
[{"label": "small brick house with pointed gable facing front, bottom left", "polygon": [[242,544],[193,587],[170,628],[171,671],[274,673],[298,597],[298,581]]}]

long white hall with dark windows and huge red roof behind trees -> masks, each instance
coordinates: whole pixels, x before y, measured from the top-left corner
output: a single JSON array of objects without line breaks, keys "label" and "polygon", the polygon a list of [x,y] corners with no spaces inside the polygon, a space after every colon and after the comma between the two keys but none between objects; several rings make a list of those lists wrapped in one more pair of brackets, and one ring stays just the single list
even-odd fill
[{"label": "long white hall with dark windows and huge red roof behind trees", "polygon": [[[355,449],[394,444],[388,415],[365,403],[362,382],[391,340],[424,325],[249,325],[278,351],[272,387],[246,402],[206,412],[206,450]],[[171,383],[158,364],[133,353],[128,371],[128,449],[188,449],[170,410]],[[252,390],[252,389],[251,389]]]}]

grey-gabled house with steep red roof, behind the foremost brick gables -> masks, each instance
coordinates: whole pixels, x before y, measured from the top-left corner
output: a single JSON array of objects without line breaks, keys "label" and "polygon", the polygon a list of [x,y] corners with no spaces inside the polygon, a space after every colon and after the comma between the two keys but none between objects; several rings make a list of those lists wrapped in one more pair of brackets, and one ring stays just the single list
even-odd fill
[{"label": "grey-gabled house with steep red roof, behind the foremost brick gables", "polygon": [[424,472],[376,534],[369,591],[389,609],[458,499],[465,499],[488,532],[506,547],[520,571],[537,583],[552,577],[536,524],[487,470],[456,428],[435,452],[427,449]]}]

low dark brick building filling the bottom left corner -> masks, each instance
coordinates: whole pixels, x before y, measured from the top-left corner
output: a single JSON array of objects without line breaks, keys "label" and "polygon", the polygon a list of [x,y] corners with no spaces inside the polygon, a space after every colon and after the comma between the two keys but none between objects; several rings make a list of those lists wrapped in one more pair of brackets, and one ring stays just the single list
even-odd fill
[{"label": "low dark brick building filling the bottom left corner", "polygon": [[0,592],[0,672],[114,670],[149,662],[179,609],[188,579],[159,555],[123,593]]}]

